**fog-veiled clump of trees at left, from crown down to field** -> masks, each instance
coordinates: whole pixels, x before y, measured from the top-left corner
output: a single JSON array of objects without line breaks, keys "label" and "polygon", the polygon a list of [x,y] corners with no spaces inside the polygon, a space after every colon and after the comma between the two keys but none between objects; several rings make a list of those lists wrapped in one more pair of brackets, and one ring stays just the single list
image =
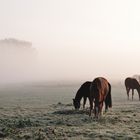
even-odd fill
[{"label": "fog-veiled clump of trees at left, from crown down to field", "polygon": [[0,40],[0,83],[33,81],[37,60],[32,43],[13,38]]}]

